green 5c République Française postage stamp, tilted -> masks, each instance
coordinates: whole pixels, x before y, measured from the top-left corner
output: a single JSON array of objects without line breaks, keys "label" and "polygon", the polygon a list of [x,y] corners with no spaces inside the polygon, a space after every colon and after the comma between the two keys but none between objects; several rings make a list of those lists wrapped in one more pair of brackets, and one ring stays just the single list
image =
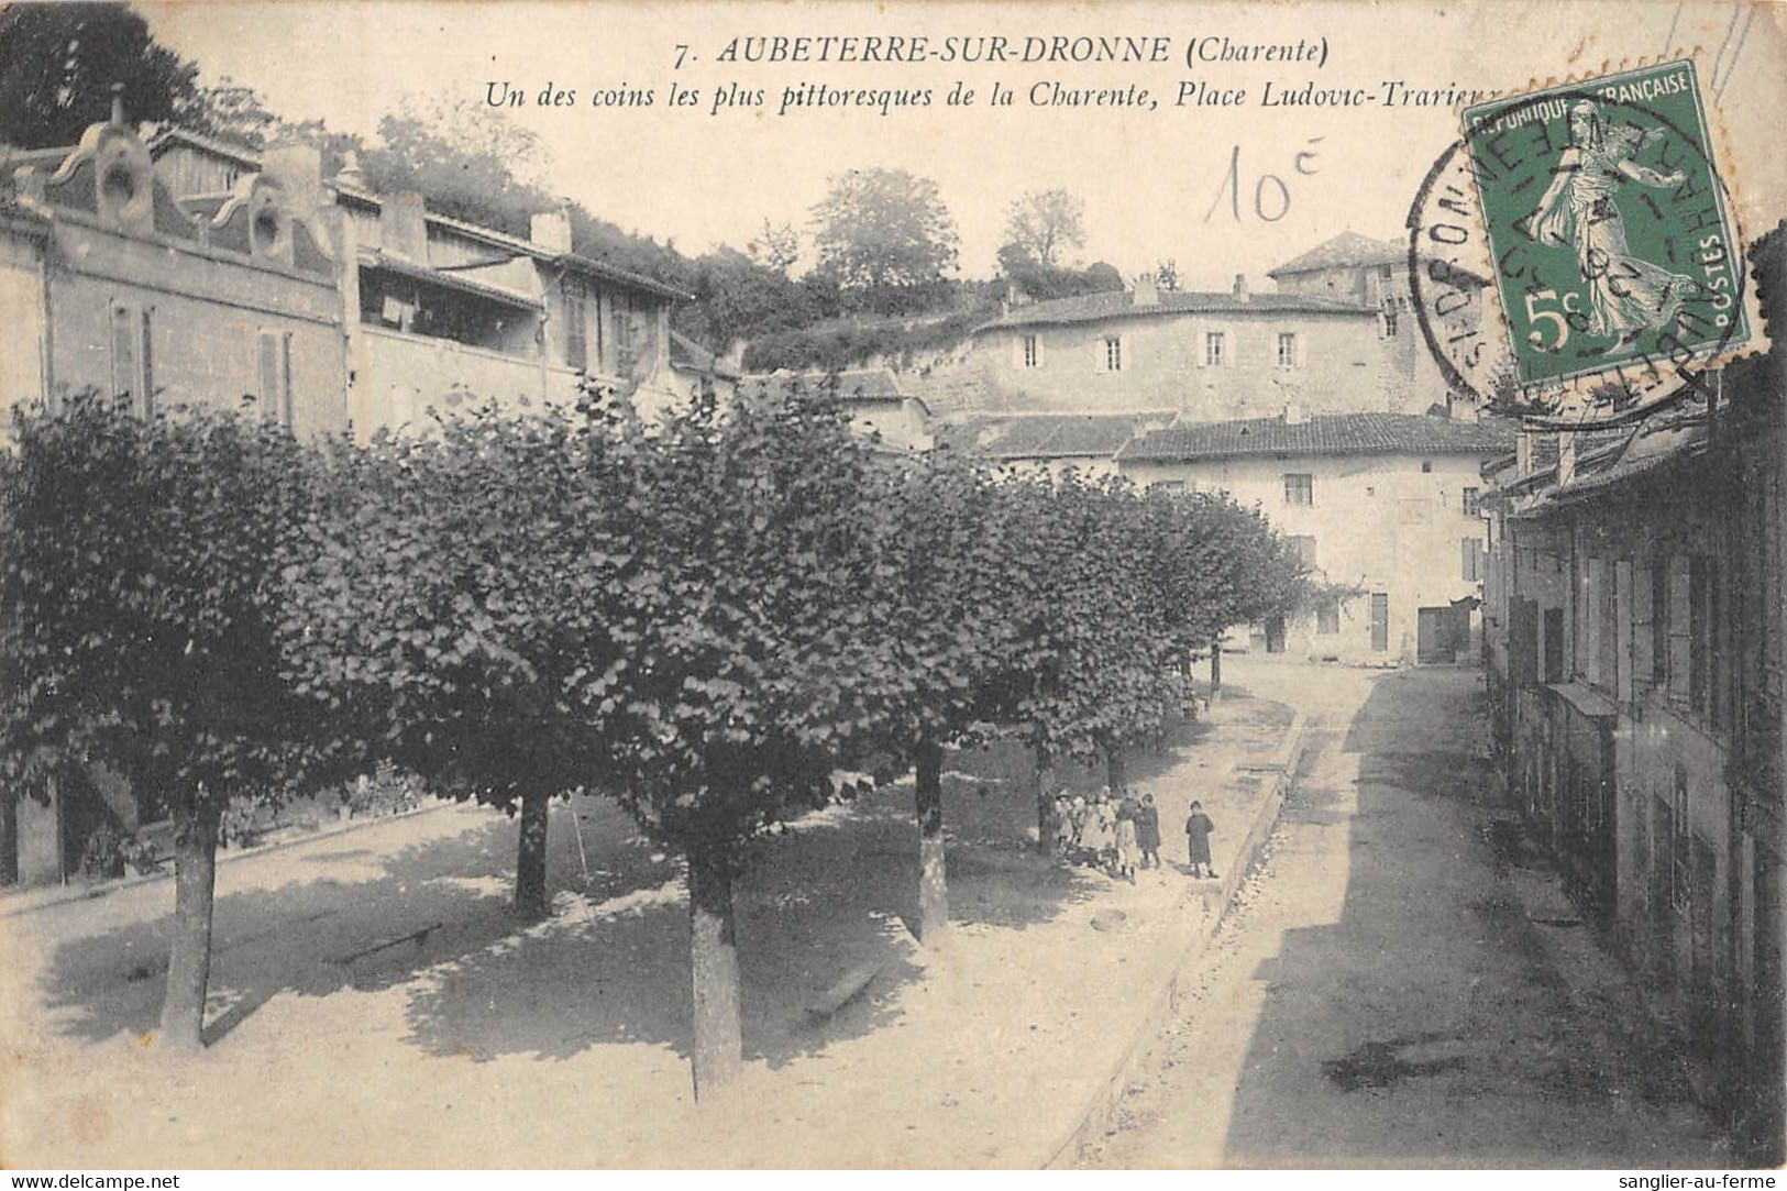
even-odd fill
[{"label": "green 5c R\u00e9publique Fran\u00e7aise postage stamp, tilted", "polygon": [[1680,372],[1749,342],[1749,277],[1692,59],[1464,111],[1514,376]]}]

